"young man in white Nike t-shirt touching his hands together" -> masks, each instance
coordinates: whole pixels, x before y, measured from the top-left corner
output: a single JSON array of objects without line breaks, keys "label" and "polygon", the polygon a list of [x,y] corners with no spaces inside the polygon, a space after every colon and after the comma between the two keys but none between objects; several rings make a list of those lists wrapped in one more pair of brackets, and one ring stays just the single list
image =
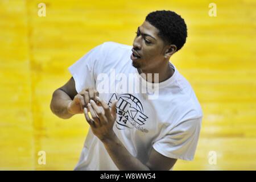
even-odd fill
[{"label": "young man in white Nike t-shirt touching his hands together", "polygon": [[[136,34],[133,47],[107,42],[92,49],[53,93],[53,113],[64,119],[84,113],[90,125],[76,170],[170,170],[177,159],[195,155],[203,113],[191,85],[169,62],[187,38],[184,19],[155,11]],[[113,71],[135,77],[113,81]],[[139,92],[117,92],[126,84]]]}]

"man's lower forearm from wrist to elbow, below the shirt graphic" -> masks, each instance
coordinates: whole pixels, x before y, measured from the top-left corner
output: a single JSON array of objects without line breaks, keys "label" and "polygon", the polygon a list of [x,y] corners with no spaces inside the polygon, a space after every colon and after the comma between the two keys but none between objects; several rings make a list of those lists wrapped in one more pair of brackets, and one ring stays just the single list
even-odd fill
[{"label": "man's lower forearm from wrist to elbow, below the shirt graphic", "polygon": [[102,141],[110,157],[119,170],[148,171],[150,170],[141,161],[130,154],[123,146],[122,142],[116,135],[112,139]]}]

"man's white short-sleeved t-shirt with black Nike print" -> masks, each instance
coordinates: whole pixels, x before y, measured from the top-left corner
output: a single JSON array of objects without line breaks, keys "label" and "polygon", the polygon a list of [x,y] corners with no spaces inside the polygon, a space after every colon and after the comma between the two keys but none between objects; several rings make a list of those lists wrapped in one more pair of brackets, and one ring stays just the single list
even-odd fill
[{"label": "man's white short-sleeved t-shirt with black Nike print", "polygon": [[[113,130],[126,149],[135,158],[146,164],[152,147],[168,158],[193,160],[199,139],[203,113],[191,85],[175,70],[168,80],[154,84],[158,88],[157,97],[149,99],[150,92],[117,92],[122,84],[147,87],[132,65],[131,46],[106,42],[93,48],[85,56],[69,67],[77,93],[84,88],[102,88],[100,97],[109,106],[117,99],[117,119]],[[113,71],[119,75],[113,80]],[[120,79],[135,75],[127,82]],[[100,77],[100,78],[99,78]],[[109,78],[104,80],[103,78]],[[104,81],[102,81],[104,80]],[[108,88],[109,86],[109,88]],[[122,85],[123,86],[123,85]],[[152,86],[152,85],[150,85]],[[102,89],[103,90],[103,89]],[[118,170],[106,151],[104,144],[89,129],[79,163],[75,170]]]}]

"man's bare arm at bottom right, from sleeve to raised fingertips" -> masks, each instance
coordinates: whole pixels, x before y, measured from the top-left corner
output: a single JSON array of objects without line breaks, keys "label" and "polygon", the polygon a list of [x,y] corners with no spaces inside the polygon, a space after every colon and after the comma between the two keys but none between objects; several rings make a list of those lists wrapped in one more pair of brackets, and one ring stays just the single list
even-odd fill
[{"label": "man's bare arm at bottom right, from sleeve to raised fingertips", "polygon": [[113,102],[110,109],[106,102],[98,97],[97,100],[104,110],[101,110],[94,101],[90,101],[88,109],[93,119],[90,119],[87,109],[84,109],[85,118],[93,134],[104,143],[110,157],[120,170],[169,170],[174,166],[177,159],[167,158],[155,151],[154,148],[152,148],[146,164],[143,164],[131,155],[113,131],[113,124],[116,118],[115,105],[117,101]]}]

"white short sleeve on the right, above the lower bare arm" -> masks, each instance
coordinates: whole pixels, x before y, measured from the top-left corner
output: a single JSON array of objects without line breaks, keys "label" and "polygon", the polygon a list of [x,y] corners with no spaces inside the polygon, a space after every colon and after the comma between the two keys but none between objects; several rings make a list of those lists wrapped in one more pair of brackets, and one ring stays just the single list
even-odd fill
[{"label": "white short sleeve on the right, above the lower bare arm", "polygon": [[183,121],[157,140],[153,147],[168,158],[193,160],[200,129],[201,118]]}]

